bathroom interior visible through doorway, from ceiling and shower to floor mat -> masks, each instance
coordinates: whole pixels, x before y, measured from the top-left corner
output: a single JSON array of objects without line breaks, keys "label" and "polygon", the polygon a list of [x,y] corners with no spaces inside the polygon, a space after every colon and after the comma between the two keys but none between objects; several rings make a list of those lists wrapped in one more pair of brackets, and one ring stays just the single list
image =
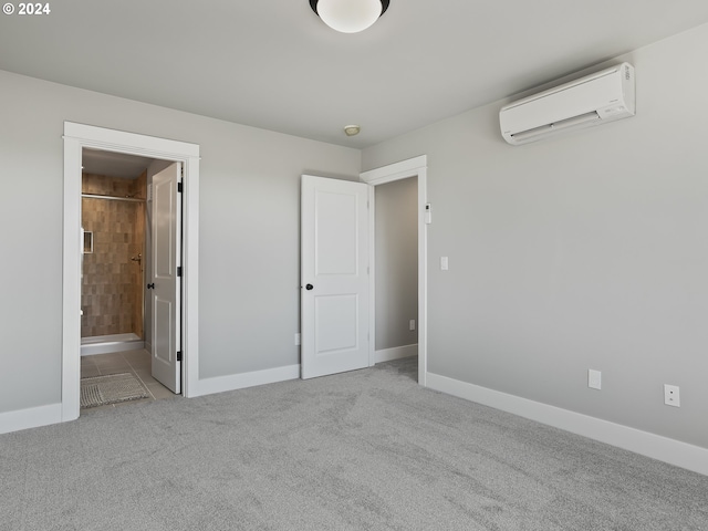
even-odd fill
[{"label": "bathroom interior visible through doorway, from ceiling and shower to floor mat", "polygon": [[[174,382],[174,389],[167,388],[155,374],[162,367],[154,366],[153,345],[159,341],[153,341],[154,317],[146,311],[146,293],[155,282],[146,275],[146,267],[154,263],[146,243],[155,240],[148,174],[152,177],[162,163],[82,150],[82,410],[173,397],[180,391]],[[177,218],[174,223],[170,232],[179,232]]]}]

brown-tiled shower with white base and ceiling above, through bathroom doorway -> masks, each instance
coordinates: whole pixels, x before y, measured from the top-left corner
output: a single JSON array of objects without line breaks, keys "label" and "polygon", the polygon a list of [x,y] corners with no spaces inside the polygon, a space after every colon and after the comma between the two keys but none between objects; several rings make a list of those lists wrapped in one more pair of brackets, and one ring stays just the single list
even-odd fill
[{"label": "brown-tiled shower with white base and ceiling above, through bathroom doorway", "polygon": [[152,159],[82,152],[81,355],[145,346],[147,169]]}]

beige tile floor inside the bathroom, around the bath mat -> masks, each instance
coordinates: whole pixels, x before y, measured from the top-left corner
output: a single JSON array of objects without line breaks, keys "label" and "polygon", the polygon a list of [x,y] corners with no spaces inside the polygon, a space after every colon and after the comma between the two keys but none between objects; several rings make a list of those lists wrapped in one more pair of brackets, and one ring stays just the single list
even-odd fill
[{"label": "beige tile floor inside the bathroom, around the bath mat", "polygon": [[111,354],[96,354],[94,356],[81,357],[81,377],[105,376],[106,374],[133,373],[150,393],[149,398],[140,400],[123,402],[121,404],[110,404],[107,406],[82,408],[82,414],[106,409],[113,407],[126,407],[140,402],[160,400],[163,398],[174,398],[171,391],[157,382],[150,375],[150,354],[146,350],[114,352]]}]

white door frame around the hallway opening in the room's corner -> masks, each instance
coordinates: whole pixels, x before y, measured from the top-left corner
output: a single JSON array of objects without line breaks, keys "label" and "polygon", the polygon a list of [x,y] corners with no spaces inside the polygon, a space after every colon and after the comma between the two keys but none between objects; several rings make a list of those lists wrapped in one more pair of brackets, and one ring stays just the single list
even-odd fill
[{"label": "white door frame around the hallway opening in the room's corner", "polygon": [[369,312],[369,341],[368,364],[373,366],[376,360],[376,222],[375,222],[375,187],[393,183],[394,180],[418,178],[418,384],[427,385],[428,373],[428,231],[426,222],[427,204],[427,170],[428,157],[418,157],[402,160],[399,163],[382,166],[360,174],[360,179],[369,185],[368,187],[368,244],[369,263],[372,263],[369,274],[371,312]]}]

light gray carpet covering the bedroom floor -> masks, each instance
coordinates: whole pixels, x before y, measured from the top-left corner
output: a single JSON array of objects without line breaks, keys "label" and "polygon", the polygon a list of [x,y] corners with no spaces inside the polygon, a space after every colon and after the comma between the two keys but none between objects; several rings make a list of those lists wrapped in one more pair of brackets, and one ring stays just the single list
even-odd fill
[{"label": "light gray carpet covering the bedroom floor", "polygon": [[0,436],[0,528],[708,530],[708,477],[420,388],[414,371],[389,362]]}]

